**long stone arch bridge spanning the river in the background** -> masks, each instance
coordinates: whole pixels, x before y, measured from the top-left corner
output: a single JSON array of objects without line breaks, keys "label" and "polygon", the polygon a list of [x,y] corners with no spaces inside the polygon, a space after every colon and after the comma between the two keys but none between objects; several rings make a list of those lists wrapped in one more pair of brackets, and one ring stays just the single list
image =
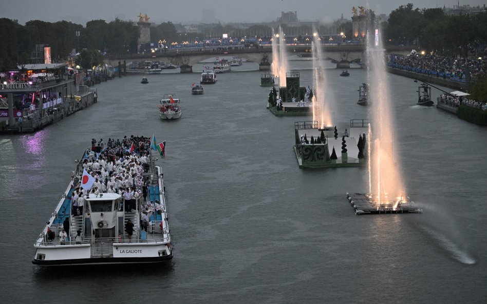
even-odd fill
[{"label": "long stone arch bridge spanning the river in the background", "polygon": [[[365,57],[365,45],[325,45],[323,52],[326,56],[336,63],[337,68],[349,68],[350,63],[360,62]],[[311,45],[288,45],[288,54],[306,54],[311,52]],[[387,46],[386,54],[407,55],[411,52],[411,47],[405,46]],[[259,48],[247,49],[226,49],[226,48],[206,48],[206,49],[167,49],[165,52],[147,53],[147,54],[122,54],[106,55],[104,63],[117,66],[119,62],[144,62],[144,61],[162,61],[170,62],[181,67],[181,73],[191,73],[194,64],[200,63],[205,59],[219,56],[236,56],[260,63],[264,56],[267,56],[272,63],[272,47],[260,46]]]}]

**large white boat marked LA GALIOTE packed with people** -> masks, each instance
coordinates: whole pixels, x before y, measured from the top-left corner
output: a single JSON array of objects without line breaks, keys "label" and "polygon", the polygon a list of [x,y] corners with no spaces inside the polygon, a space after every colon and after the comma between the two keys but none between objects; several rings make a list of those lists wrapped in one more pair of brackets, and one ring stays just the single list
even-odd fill
[{"label": "large white boat marked LA GALIOTE packed with people", "polygon": [[[100,147],[95,151],[86,149],[78,161],[68,187],[35,241],[33,264],[59,266],[170,260],[173,250],[161,167],[154,165],[153,156],[127,152],[121,146],[114,145],[110,149]],[[86,181],[84,169],[96,175],[94,165],[90,167],[89,163],[95,164],[95,159],[114,159],[118,153],[125,156],[120,163],[117,161],[115,167],[125,168],[126,165],[135,168],[134,174],[139,181],[135,183],[135,191],[142,191],[144,183],[148,185],[147,201],[144,201],[143,195],[124,201],[121,192],[111,193],[109,190],[110,193],[96,191],[86,194],[89,190],[83,190],[83,208],[73,208],[72,193],[76,190],[78,194],[79,186],[83,187]],[[115,179],[115,175],[108,175],[108,180]],[[148,221],[142,220],[144,217]],[[132,228],[127,229],[130,226]],[[68,236],[64,235],[65,232]]]}]

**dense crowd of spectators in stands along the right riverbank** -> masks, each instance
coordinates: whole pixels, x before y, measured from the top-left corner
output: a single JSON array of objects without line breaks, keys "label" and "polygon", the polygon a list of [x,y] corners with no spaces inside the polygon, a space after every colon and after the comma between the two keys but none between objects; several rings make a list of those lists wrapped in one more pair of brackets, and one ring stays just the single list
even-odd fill
[{"label": "dense crowd of spectators in stands along the right riverbank", "polygon": [[487,65],[482,59],[419,55],[415,52],[402,57],[391,56],[388,66],[417,73],[436,75],[458,82],[465,82],[467,67],[470,69],[472,79],[487,73]]}]

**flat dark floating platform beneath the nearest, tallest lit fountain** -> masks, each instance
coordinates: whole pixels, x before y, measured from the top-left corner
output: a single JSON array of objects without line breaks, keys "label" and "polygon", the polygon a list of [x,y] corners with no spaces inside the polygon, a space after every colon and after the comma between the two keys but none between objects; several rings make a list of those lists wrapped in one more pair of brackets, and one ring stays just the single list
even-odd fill
[{"label": "flat dark floating platform beneath the nearest, tallest lit fountain", "polygon": [[347,193],[350,205],[355,209],[355,214],[392,214],[392,213],[422,213],[409,197],[400,198],[398,201],[385,200],[380,203],[373,200],[373,195],[367,193]]}]

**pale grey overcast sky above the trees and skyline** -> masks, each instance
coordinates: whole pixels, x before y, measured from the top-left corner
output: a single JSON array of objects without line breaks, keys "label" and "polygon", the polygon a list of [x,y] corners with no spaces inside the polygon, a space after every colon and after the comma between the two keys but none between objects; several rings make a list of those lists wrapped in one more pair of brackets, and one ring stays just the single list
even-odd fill
[{"label": "pale grey overcast sky above the trees and skyline", "polygon": [[[352,16],[353,6],[365,6],[376,13],[389,14],[400,5],[413,3],[418,8],[453,7],[457,0],[1,0],[0,17],[17,19],[20,24],[30,20],[72,21],[86,25],[93,19],[107,22],[115,17],[138,21],[139,13],[147,14],[156,24],[201,23],[214,16],[214,21],[268,22],[275,21],[282,11],[296,11],[301,21],[329,21]],[[460,6],[484,6],[486,0],[460,1]],[[210,11],[203,17],[203,11]],[[212,12],[213,11],[213,12]]]}]

